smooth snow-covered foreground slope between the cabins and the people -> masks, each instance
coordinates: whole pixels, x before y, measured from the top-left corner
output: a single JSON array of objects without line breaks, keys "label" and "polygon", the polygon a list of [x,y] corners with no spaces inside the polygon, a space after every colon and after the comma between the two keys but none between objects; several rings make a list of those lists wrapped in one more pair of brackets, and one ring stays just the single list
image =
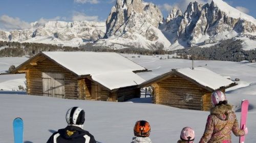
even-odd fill
[{"label": "smooth snow-covered foreground slope between the cabins and the people", "polygon": [[[249,99],[248,134],[246,141],[256,139],[255,95],[228,94],[229,103],[239,111],[241,99]],[[59,99],[32,95],[0,95],[0,113],[2,130],[1,142],[13,142],[12,120],[21,117],[24,120],[24,142],[47,142],[51,134],[67,126],[65,115],[72,106],[79,106],[86,111],[84,129],[94,135],[97,142],[131,142],[133,127],[137,120],[146,120],[151,125],[152,142],[177,142],[183,127],[195,130],[195,142],[199,142],[205,128],[208,111],[178,109],[151,103],[120,103],[105,101],[84,101]],[[148,100],[150,101],[150,100]],[[240,112],[236,112],[240,121]],[[121,132],[120,132],[121,131]],[[232,134],[232,133],[231,133]],[[239,137],[232,134],[232,142]]]}]

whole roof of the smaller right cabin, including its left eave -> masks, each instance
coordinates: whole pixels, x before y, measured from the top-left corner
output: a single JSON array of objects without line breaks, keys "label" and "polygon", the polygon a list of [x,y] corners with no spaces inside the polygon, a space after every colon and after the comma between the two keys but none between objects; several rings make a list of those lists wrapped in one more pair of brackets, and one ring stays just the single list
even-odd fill
[{"label": "whole roof of the smaller right cabin, including its left eave", "polygon": [[226,79],[225,77],[212,72],[203,67],[195,67],[191,68],[181,68],[181,69],[173,69],[167,73],[161,74],[157,77],[149,79],[141,84],[141,87],[145,87],[147,85],[152,84],[153,82],[159,81],[165,77],[168,77],[172,74],[178,74],[190,81],[193,81],[201,87],[204,87],[207,90],[214,91],[218,90],[221,87],[229,87],[231,84],[234,84],[233,81]]}]

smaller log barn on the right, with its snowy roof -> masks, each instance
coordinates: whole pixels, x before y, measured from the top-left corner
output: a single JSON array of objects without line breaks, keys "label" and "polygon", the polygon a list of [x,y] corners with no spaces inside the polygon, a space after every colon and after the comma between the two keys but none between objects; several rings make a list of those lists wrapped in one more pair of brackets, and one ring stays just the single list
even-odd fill
[{"label": "smaller log barn on the right, with its snowy roof", "polygon": [[178,108],[209,110],[215,90],[225,92],[236,83],[203,67],[173,69],[141,83],[152,86],[153,103]]}]

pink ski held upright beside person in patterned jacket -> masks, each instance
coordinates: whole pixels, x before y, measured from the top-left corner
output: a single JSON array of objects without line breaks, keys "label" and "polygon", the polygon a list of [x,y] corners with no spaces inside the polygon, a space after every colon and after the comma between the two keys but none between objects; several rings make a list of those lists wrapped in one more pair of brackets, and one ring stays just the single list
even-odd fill
[{"label": "pink ski held upright beside person in patterned jacket", "polygon": [[[242,103],[241,103],[241,122],[240,122],[240,128],[241,129],[243,128],[243,126],[246,127],[248,106],[249,106],[249,101],[248,100],[242,100]],[[240,136],[239,143],[244,143],[244,142],[245,142],[245,135]]]}]

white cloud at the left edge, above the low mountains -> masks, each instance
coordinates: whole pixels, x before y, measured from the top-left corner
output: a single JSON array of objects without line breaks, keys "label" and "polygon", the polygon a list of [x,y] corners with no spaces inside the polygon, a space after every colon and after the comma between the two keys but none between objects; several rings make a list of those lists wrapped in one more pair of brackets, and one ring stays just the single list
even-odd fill
[{"label": "white cloud at the left edge, above the low mountains", "polygon": [[29,27],[31,27],[31,25],[28,22],[22,21],[18,17],[13,18],[8,15],[2,15],[0,17],[0,28],[3,30],[23,30]]}]

